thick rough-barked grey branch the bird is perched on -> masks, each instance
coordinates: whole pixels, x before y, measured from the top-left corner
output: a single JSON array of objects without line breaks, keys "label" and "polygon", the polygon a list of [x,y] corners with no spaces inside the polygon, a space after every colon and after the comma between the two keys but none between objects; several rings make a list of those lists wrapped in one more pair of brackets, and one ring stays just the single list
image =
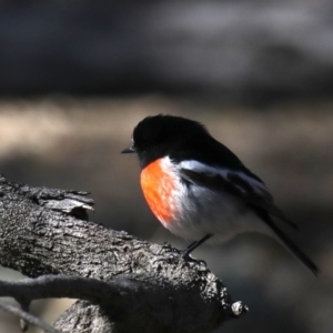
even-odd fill
[{"label": "thick rough-barked grey branch the bird is perched on", "polygon": [[[0,264],[32,278],[75,276],[11,283],[11,292],[2,293],[29,301],[37,295],[80,296],[102,305],[77,302],[58,321],[60,330],[211,332],[246,310],[232,304],[226,287],[203,262],[184,260],[170,245],[84,221],[83,212],[93,203],[85,192],[30,189],[1,178],[0,193]],[[58,295],[57,283],[63,286]],[[91,290],[79,291],[83,285]]]}]

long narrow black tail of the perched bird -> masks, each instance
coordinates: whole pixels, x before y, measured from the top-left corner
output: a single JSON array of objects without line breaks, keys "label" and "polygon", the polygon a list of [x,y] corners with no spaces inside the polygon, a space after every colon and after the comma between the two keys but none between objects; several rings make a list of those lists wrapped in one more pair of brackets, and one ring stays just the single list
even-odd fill
[{"label": "long narrow black tail of the perched bird", "polygon": [[300,250],[274,223],[271,216],[266,212],[259,212],[260,216],[266,222],[271,230],[278,235],[279,240],[282,242],[286,249],[293,253],[312,273],[317,276],[320,269],[315,263],[302,251]]}]

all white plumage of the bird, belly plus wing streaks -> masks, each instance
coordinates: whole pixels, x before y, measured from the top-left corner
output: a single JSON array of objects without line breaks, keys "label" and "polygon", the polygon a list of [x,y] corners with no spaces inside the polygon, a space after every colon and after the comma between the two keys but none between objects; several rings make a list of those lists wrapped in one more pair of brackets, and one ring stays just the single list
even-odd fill
[{"label": "all white plumage of the bird, belly plus wing streaks", "polygon": [[[163,223],[172,233],[188,240],[200,240],[208,233],[214,234],[211,242],[223,242],[238,233],[246,231],[271,232],[254,211],[240,199],[228,192],[213,191],[202,185],[186,183],[181,179],[180,170],[188,169],[199,173],[228,176],[226,169],[206,167],[198,161],[173,163],[170,158],[163,158],[162,168],[173,174],[176,182],[172,191],[170,204],[175,212],[172,222]],[[265,185],[244,173],[238,173],[244,181],[259,191],[268,191]]]}]

